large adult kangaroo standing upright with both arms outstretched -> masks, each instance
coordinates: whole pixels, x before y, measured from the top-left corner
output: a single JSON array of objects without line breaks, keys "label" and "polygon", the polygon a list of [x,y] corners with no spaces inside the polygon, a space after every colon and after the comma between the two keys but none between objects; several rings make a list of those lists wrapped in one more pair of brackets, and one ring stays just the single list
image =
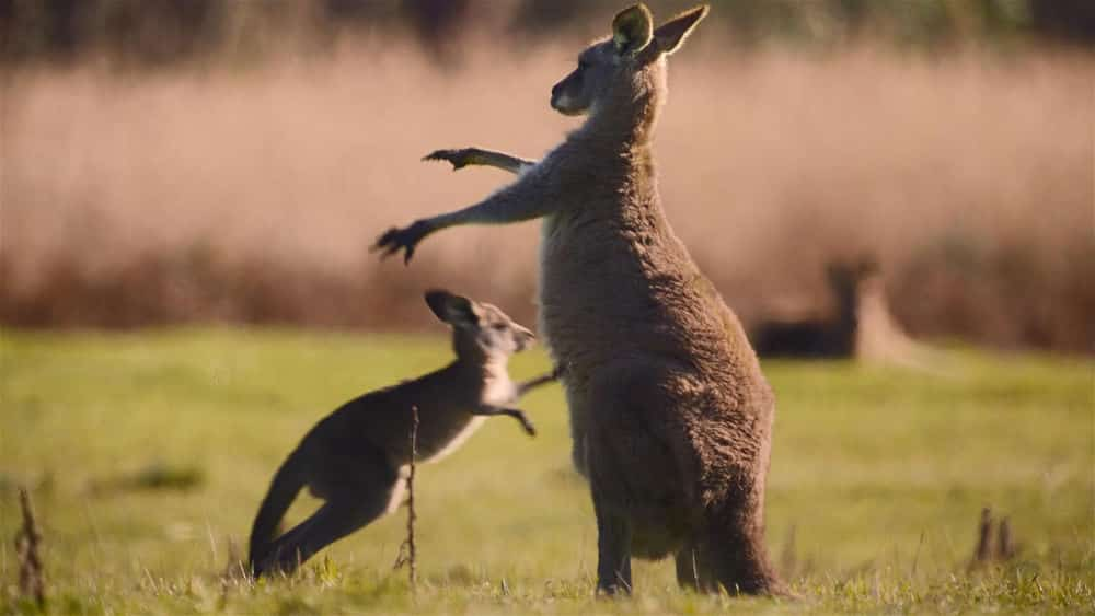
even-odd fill
[{"label": "large adult kangaroo standing upright with both arms outstretched", "polygon": [[552,89],[556,111],[588,115],[580,128],[535,163],[436,152],[519,177],[374,246],[410,261],[448,226],[544,219],[541,330],[563,370],[574,463],[597,515],[597,584],[609,594],[630,592],[632,556],[670,554],[682,585],[784,592],[764,546],[774,397],[737,317],[666,220],[654,170],[666,57],[706,13],[657,28],[642,4],[619,13],[612,37]]}]

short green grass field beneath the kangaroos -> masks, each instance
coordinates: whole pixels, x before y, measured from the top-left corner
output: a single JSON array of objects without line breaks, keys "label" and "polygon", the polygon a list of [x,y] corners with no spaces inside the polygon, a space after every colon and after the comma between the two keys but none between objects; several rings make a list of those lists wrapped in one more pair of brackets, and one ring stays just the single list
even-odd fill
[{"label": "short green grass field beneath the kangaroos", "polygon": [[[178,329],[3,332],[0,601],[18,595],[16,486],[32,488],[59,613],[1095,612],[1095,364],[949,353],[937,374],[769,363],[779,411],[768,490],[773,558],[802,598],[677,590],[638,563],[633,598],[592,596],[596,528],[569,468],[557,387],[419,467],[420,581],[393,571],[405,510],[292,579],[231,571],[274,469],[360,392],[449,359],[437,337]],[[546,368],[540,352],[514,373]],[[302,498],[299,520],[314,502]],[[1019,544],[968,570],[981,508]]]}]

